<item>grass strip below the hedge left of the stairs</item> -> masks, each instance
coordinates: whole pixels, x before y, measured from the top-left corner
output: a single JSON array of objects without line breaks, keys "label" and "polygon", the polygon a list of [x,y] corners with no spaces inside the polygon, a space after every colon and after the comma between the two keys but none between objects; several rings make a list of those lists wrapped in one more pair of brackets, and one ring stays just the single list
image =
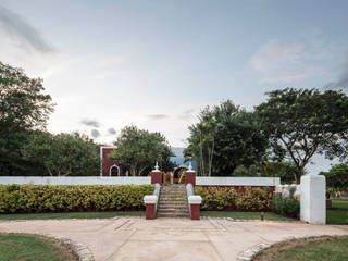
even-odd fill
[{"label": "grass strip below the hedge left of the stairs", "polygon": [[66,213],[0,214],[0,220],[110,219],[114,216],[144,216],[144,215],[145,215],[145,211],[66,212]]}]

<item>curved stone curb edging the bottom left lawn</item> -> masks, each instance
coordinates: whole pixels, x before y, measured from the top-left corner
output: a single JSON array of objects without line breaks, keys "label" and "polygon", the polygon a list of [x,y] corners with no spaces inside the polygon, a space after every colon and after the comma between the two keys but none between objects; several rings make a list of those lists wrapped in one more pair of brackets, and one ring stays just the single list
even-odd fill
[{"label": "curved stone curb edging the bottom left lawn", "polygon": [[34,235],[34,236],[42,236],[42,237],[50,237],[55,240],[58,240],[60,244],[63,246],[72,249],[77,256],[79,261],[95,261],[95,257],[89,250],[88,247],[80,243],[75,243],[72,239],[65,238],[65,237],[60,237],[60,236],[54,236],[51,234],[46,234],[46,233],[1,233],[4,235],[10,235],[10,234],[21,234],[21,235]]}]

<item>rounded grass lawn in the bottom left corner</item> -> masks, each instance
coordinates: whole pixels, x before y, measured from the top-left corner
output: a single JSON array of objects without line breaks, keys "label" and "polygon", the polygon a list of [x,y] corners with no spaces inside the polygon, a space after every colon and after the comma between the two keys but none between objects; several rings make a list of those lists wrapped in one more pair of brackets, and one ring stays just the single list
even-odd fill
[{"label": "rounded grass lawn in the bottom left corner", "polygon": [[[55,243],[57,244],[57,243]],[[75,261],[73,253],[50,239],[29,235],[0,235],[0,261]]]}]

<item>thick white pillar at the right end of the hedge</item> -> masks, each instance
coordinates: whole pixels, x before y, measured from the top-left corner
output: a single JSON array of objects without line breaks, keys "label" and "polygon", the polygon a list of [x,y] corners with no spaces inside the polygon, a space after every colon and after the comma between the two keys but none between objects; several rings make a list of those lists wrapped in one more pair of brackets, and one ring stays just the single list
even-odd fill
[{"label": "thick white pillar at the right end of the hedge", "polygon": [[301,177],[301,221],[310,224],[326,223],[325,176],[304,175]]}]

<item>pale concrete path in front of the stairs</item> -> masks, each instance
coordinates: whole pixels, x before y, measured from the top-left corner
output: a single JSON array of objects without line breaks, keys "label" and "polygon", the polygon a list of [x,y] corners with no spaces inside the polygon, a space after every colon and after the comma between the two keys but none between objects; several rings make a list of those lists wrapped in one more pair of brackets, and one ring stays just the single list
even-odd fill
[{"label": "pale concrete path in front of the stairs", "polygon": [[96,261],[233,261],[261,243],[289,236],[348,235],[348,226],[225,219],[114,217],[110,220],[0,221],[0,232],[47,233],[87,246]]}]

